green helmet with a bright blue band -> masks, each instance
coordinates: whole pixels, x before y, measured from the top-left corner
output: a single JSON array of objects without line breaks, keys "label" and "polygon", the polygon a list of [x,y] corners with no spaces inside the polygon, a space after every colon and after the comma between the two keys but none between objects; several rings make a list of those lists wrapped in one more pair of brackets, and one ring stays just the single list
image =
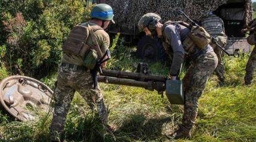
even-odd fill
[{"label": "green helmet with a bright blue band", "polygon": [[92,8],[92,11],[90,12],[90,18],[97,18],[99,20],[112,21],[115,23],[113,17],[113,9],[110,7],[110,5],[107,4],[97,4]]}]

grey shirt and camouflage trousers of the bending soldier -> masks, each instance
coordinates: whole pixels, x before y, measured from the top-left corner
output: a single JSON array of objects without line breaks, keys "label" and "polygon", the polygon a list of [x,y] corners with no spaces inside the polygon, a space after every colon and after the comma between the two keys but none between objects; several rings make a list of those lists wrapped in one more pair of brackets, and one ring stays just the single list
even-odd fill
[{"label": "grey shirt and camouflage trousers of the bending soldier", "polygon": [[[189,31],[190,30],[183,25],[168,25],[167,22],[163,25],[163,46],[169,56],[173,57],[170,73],[172,73],[173,70],[175,70],[173,72],[175,73],[180,68],[177,64],[178,61],[176,60],[174,62],[174,57],[175,54],[179,53],[179,49],[188,48],[185,46],[182,47],[180,43],[185,41]],[[186,59],[190,61],[191,65],[182,80],[185,91],[185,106],[182,125],[180,125],[179,130],[173,133],[175,138],[191,137],[191,128],[195,123],[198,112],[198,99],[202,95],[202,91],[218,63],[217,55],[210,45],[205,47],[205,52],[201,52],[202,50],[196,46],[192,46],[189,50],[185,51],[188,53],[192,50],[194,51],[193,53],[189,53],[185,56]],[[196,56],[194,56],[195,54]],[[182,60],[182,57],[178,56],[176,58]]]}]

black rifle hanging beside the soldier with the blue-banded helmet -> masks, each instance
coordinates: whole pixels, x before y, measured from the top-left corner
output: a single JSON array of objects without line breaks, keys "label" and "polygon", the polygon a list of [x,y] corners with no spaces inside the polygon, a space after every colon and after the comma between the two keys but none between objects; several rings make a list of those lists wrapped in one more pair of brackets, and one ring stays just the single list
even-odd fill
[{"label": "black rifle hanging beside the soldier with the blue-banded helmet", "polygon": [[96,89],[98,86],[98,76],[97,73],[102,74],[101,64],[110,60],[110,50],[107,50],[102,58],[96,63],[94,69],[92,70],[92,77],[93,77],[93,89]]}]

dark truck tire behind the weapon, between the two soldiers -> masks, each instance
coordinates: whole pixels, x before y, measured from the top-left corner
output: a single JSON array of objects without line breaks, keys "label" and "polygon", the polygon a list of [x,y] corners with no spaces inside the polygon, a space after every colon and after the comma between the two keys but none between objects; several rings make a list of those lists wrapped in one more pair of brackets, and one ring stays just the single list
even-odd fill
[{"label": "dark truck tire behind the weapon, between the two soldiers", "polygon": [[146,62],[165,61],[167,54],[160,38],[144,35],[137,45],[137,56]]}]

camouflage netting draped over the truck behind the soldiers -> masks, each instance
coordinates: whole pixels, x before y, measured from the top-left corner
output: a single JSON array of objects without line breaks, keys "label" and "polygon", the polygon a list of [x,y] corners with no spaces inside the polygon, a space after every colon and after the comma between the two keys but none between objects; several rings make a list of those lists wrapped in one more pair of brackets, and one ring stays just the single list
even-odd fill
[{"label": "camouflage netting draped over the truck behind the soldiers", "polygon": [[[106,3],[114,9],[114,20],[117,27],[129,28],[136,32],[139,18],[148,12],[155,12],[162,18],[162,22],[167,20],[180,21],[185,20],[176,11],[182,9],[193,20],[199,20],[208,11],[216,10],[220,5],[228,0],[106,0]],[[251,0],[246,0],[245,6],[248,11],[247,19],[251,17]],[[118,12],[117,12],[118,11]]]}]

